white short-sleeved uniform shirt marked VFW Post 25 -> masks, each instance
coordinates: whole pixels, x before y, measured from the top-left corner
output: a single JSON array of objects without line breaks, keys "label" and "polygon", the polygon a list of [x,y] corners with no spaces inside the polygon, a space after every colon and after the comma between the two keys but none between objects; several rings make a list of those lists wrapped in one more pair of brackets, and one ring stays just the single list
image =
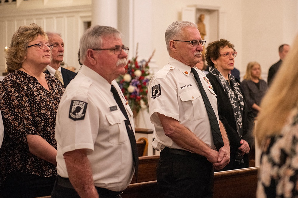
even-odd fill
[{"label": "white short-sleeved uniform shirt marked VFW Post 25", "polygon": [[[156,150],[162,150],[164,147],[183,149],[165,135],[157,112],[179,121],[215,150],[206,107],[197,81],[190,70],[191,67],[188,65],[170,57],[169,64],[150,80],[149,114],[155,127],[152,146]],[[216,95],[206,75],[201,70],[196,70],[218,120]]]}]

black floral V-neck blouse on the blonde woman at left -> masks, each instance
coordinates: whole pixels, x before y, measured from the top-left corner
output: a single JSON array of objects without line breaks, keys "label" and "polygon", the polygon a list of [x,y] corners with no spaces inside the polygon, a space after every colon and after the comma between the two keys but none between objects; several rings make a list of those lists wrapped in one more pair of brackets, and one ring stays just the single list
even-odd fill
[{"label": "black floral V-neck blouse on the blonde woman at left", "polygon": [[26,135],[39,135],[57,149],[55,120],[64,87],[45,74],[50,91],[33,76],[17,70],[0,83],[4,139],[0,149],[0,185],[11,171],[53,177],[56,167],[29,152]]}]

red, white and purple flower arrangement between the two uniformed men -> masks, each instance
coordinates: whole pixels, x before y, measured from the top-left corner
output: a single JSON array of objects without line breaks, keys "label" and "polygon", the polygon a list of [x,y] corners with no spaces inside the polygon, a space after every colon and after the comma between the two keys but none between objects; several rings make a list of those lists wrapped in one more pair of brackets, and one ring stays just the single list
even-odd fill
[{"label": "red, white and purple flower arrangement between the two uniformed men", "polygon": [[144,59],[138,61],[138,45],[136,51],[135,57],[132,57],[125,66],[125,74],[116,79],[134,116],[136,116],[141,109],[148,110],[148,84],[152,77],[148,63],[154,54],[153,51],[148,61]]}]

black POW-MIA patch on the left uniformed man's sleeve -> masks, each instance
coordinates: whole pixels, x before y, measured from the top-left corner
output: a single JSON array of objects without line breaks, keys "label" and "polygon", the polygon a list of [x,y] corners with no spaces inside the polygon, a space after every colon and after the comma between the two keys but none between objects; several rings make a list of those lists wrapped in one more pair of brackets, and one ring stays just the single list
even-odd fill
[{"label": "black POW-MIA patch on the left uniformed man's sleeve", "polygon": [[70,103],[69,118],[75,121],[84,120],[87,104],[80,100],[72,100]]}]

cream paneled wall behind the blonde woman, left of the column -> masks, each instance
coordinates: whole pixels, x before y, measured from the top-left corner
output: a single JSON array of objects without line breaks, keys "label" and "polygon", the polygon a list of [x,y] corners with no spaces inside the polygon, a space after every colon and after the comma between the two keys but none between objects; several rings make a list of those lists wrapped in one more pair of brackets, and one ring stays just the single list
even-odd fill
[{"label": "cream paneled wall behind the blonde woman, left of the column", "polygon": [[[78,70],[79,39],[83,32],[83,22],[91,21],[91,1],[84,1],[81,5],[78,5],[77,0],[67,5],[64,2],[62,5],[65,7],[57,7],[57,0],[48,0],[48,4],[42,2],[44,1],[22,1],[18,7],[16,4],[0,5],[0,50],[4,52],[5,46],[9,47],[11,37],[19,26],[36,23],[45,31],[61,33],[65,43],[64,62]],[[0,55],[1,74],[4,72],[4,67],[3,53]]]}]

